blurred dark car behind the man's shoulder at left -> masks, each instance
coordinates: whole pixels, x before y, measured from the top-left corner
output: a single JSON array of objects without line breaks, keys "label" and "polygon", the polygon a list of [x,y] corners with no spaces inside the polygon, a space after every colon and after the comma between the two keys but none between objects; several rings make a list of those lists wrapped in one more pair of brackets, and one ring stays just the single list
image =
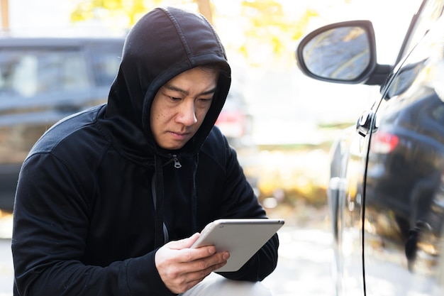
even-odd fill
[{"label": "blurred dark car behind the man's shoulder at left", "polygon": [[123,38],[0,37],[0,209],[12,211],[18,172],[60,119],[106,102]]}]

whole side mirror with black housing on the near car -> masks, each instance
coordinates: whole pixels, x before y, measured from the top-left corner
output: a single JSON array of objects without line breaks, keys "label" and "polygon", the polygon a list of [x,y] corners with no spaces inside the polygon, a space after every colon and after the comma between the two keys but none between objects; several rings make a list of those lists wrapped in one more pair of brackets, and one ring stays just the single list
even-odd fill
[{"label": "whole side mirror with black housing on the near car", "polygon": [[370,21],[323,26],[299,41],[296,63],[305,75],[343,84],[382,85],[392,70],[379,65]]}]

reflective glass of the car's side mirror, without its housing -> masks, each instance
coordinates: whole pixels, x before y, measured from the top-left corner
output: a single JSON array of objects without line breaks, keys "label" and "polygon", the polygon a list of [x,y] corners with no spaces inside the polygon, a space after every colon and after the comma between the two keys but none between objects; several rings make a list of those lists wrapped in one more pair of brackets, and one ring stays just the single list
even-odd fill
[{"label": "reflective glass of the car's side mirror, without its housing", "polygon": [[306,43],[302,56],[314,75],[354,80],[370,64],[370,43],[363,28],[333,28]]}]

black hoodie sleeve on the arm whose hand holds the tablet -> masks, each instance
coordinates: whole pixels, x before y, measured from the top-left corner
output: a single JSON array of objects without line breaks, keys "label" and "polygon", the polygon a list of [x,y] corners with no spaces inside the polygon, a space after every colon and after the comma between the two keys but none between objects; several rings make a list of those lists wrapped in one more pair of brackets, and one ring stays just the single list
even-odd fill
[{"label": "black hoodie sleeve on the arm whose hand holds the tablet", "polygon": [[49,153],[23,165],[14,209],[14,295],[173,295],[155,268],[155,251],[108,266],[81,261],[89,228],[75,178]]}]

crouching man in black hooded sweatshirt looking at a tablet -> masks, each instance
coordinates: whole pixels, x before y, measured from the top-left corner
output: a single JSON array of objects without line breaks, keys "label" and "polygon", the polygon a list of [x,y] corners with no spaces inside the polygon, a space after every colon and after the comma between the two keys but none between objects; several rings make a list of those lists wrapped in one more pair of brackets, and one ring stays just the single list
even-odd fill
[{"label": "crouching man in black hooded sweatshirt looking at a tablet", "polygon": [[228,280],[201,283],[228,253],[190,248],[215,219],[266,218],[213,126],[230,71],[201,16],[155,9],[135,24],[108,103],[50,128],[23,163],[14,295],[270,295],[259,281],[277,235]]}]

